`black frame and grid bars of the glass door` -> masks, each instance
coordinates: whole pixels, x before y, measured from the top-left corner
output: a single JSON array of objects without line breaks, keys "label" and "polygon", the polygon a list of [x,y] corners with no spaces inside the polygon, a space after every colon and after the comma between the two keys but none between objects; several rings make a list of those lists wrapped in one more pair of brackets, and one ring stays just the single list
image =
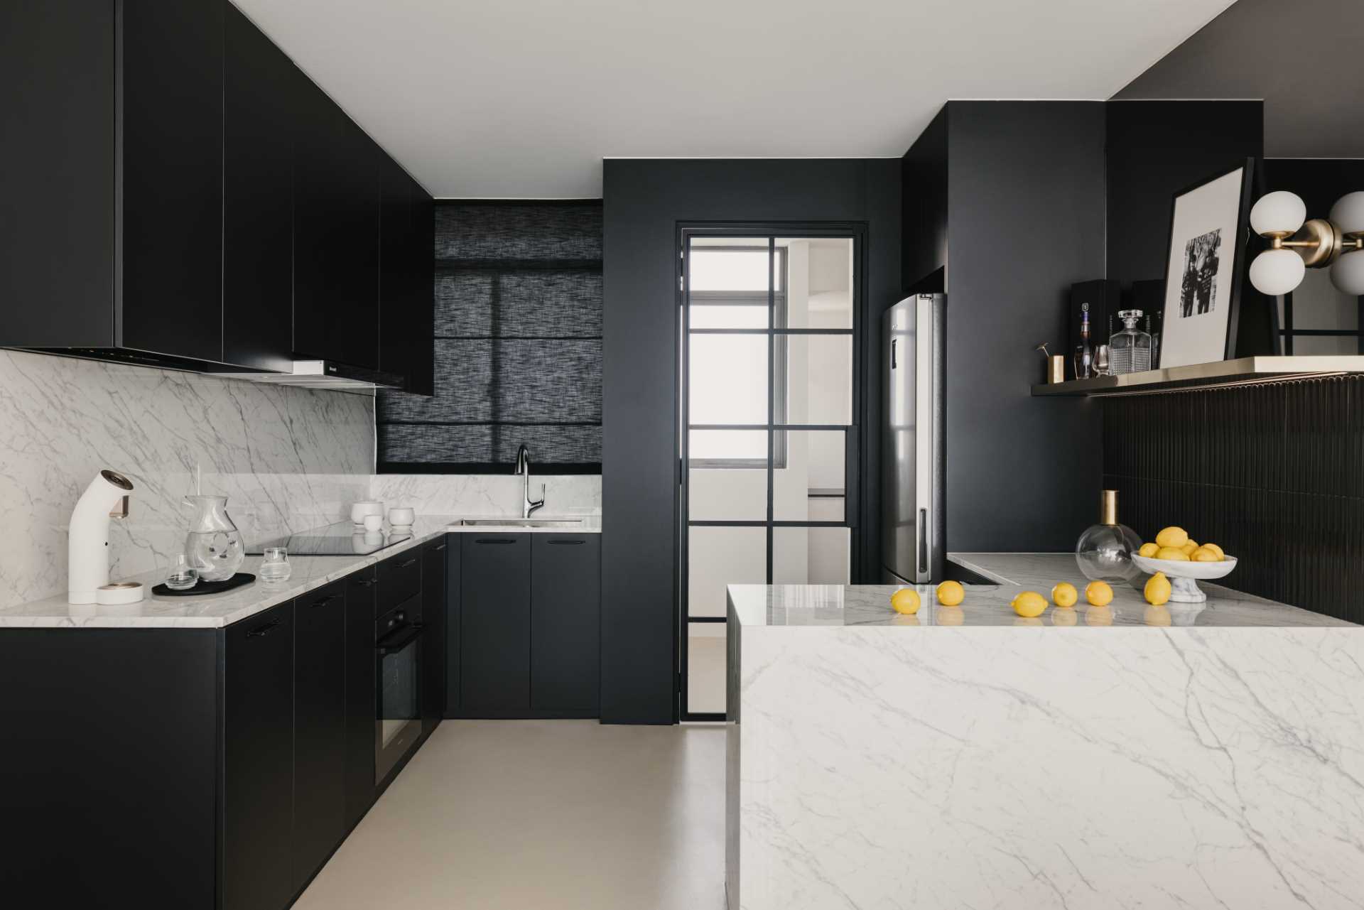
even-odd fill
[{"label": "black frame and grid bars of the glass door", "polygon": [[[687,707],[687,648],[689,648],[689,623],[692,622],[727,622],[727,617],[690,617],[687,615],[687,538],[689,529],[693,527],[764,527],[767,528],[767,583],[772,584],[772,529],[773,528],[848,528],[848,573],[850,581],[857,581],[861,573],[862,565],[862,535],[861,527],[863,524],[865,516],[862,514],[862,495],[861,495],[861,468],[862,468],[862,453],[866,452],[866,422],[858,422],[862,416],[862,407],[865,398],[865,377],[862,375],[863,356],[866,356],[866,332],[863,318],[866,310],[866,273],[868,273],[868,244],[866,244],[866,222],[863,221],[679,221],[677,224],[677,251],[678,251],[678,276],[675,288],[677,300],[677,318],[678,318],[678,336],[677,345],[674,348],[674,363],[678,364],[678,394],[674,397],[674,453],[677,464],[677,542],[678,542],[678,562],[677,562],[677,584],[672,613],[674,613],[674,634],[677,636],[677,643],[672,649],[677,664],[674,667],[674,715],[677,720],[681,722],[705,722],[705,720],[726,720],[727,712],[708,712],[708,711],[689,711]],[[768,420],[765,424],[726,424],[709,426],[697,424],[692,426],[689,420],[689,402],[687,402],[687,359],[690,353],[689,340],[692,336],[690,327],[690,314],[687,307],[687,288],[690,285],[690,256],[687,250],[690,240],[693,237],[767,237],[768,239],[768,255],[769,258],[775,254],[775,241],[777,237],[839,237],[853,240],[853,293],[850,304],[853,307],[853,327],[851,329],[790,329],[777,327],[775,319],[775,289],[771,280],[771,266],[768,269],[768,308],[769,318],[765,330],[758,329],[709,329],[705,330],[713,334],[762,334],[768,337]],[[769,259],[771,262],[771,259]],[[698,330],[701,332],[701,330]],[[850,424],[791,424],[791,423],[775,423],[775,396],[776,396],[776,382],[772,379],[772,367],[775,363],[775,347],[776,337],[779,334],[784,336],[799,336],[799,334],[828,334],[828,336],[848,336],[853,340],[853,363],[851,363],[851,379],[853,379],[853,423]],[[687,514],[689,506],[689,469],[687,469],[687,438],[689,430],[707,430],[707,428],[724,428],[724,430],[765,430],[768,434],[768,458],[767,458],[767,520],[765,521],[690,521]],[[772,501],[772,487],[773,487],[773,445],[779,431],[792,430],[792,431],[810,431],[810,430],[836,430],[844,432],[844,475],[847,482],[844,483],[843,491],[843,521],[777,521],[773,520],[773,501]],[[732,694],[732,693],[731,693]]]}]

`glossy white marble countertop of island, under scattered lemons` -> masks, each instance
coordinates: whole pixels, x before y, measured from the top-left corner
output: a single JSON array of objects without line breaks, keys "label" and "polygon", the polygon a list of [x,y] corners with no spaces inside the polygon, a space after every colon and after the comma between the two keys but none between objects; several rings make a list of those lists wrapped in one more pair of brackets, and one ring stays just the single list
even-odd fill
[{"label": "glossy white marble countertop of island, under scattered lemons", "polygon": [[[998,581],[966,587],[959,607],[938,606],[936,585],[914,585],[921,607],[915,615],[891,610],[891,595],[904,585],[760,585],[731,584],[730,606],[742,626],[1035,626],[1035,628],[1364,628],[1309,610],[1200,581],[1209,595],[1202,604],[1153,607],[1129,585],[1113,585],[1113,602],[1084,602],[1087,580],[1068,553],[955,553],[952,562]],[[1019,591],[1050,598],[1052,585],[1069,581],[1080,592],[1073,608],[1048,607],[1037,618],[1013,613]]]}]

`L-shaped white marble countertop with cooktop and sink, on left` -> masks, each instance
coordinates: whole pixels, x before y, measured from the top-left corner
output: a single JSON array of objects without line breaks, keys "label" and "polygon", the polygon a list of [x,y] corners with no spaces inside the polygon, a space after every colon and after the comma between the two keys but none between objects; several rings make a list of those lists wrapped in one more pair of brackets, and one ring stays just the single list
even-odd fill
[{"label": "L-shaped white marble countertop with cooktop and sink, on left", "polygon": [[[542,516],[536,516],[540,518]],[[600,533],[602,516],[543,516],[546,520],[572,518],[578,524],[569,528],[518,528],[518,527],[477,527],[460,524],[465,520],[491,518],[512,521],[507,516],[423,516],[416,520],[412,536],[368,555],[340,557],[289,557],[293,573],[288,581],[254,581],[241,588],[218,595],[162,598],[151,593],[151,587],[160,584],[165,572],[147,572],[115,581],[140,581],[146,596],[139,603],[121,606],[72,604],[65,593],[20,603],[0,610],[0,628],[29,629],[218,629],[232,625],[262,610],[307,593],[315,588],[336,581],[344,576],[374,565],[405,550],[417,547],[445,533]],[[352,533],[351,523],[340,523],[301,532],[306,535],[346,536]],[[241,572],[256,574],[261,557],[247,557]]]}]

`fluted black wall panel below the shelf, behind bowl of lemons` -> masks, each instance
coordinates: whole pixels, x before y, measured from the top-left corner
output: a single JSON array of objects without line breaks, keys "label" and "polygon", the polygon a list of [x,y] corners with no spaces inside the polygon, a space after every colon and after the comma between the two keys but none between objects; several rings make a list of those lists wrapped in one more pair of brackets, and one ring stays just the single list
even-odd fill
[{"label": "fluted black wall panel below the shelf, behind bowl of lemons", "polygon": [[1103,480],[1143,539],[1177,524],[1219,584],[1364,622],[1364,378],[1108,398]]}]

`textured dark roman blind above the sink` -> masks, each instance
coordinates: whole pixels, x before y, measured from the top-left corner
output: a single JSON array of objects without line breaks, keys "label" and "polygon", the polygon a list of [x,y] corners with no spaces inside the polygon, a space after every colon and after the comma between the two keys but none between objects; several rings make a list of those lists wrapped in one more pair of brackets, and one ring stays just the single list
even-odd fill
[{"label": "textured dark roman blind above the sink", "polygon": [[602,203],[436,202],[435,396],[376,423],[381,472],[599,472]]}]

